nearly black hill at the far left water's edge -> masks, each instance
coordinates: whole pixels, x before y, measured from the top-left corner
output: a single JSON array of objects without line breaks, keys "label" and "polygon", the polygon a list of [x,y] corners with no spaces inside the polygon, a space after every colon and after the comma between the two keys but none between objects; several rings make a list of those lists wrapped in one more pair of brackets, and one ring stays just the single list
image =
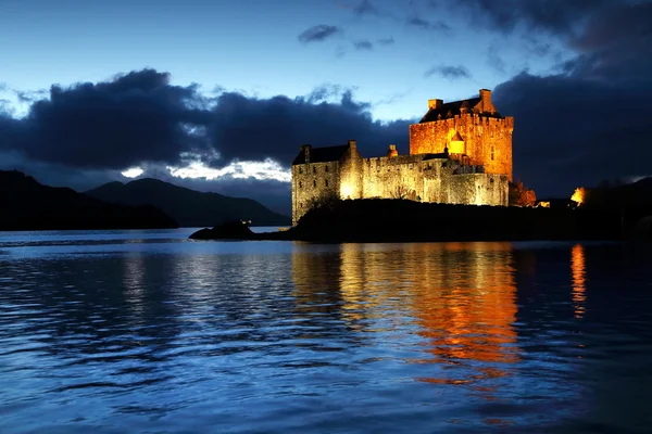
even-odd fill
[{"label": "nearly black hill at the far left water's edge", "polygon": [[177,224],[153,206],[116,205],[0,170],[0,230],[153,229]]}]

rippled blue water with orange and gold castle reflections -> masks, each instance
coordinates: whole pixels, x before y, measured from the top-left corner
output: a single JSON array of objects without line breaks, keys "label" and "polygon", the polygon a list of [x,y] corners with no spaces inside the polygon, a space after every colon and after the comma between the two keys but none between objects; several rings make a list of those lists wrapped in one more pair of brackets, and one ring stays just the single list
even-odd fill
[{"label": "rippled blue water with orange and gold castle reflections", "polygon": [[652,254],[0,233],[2,433],[643,433]]}]

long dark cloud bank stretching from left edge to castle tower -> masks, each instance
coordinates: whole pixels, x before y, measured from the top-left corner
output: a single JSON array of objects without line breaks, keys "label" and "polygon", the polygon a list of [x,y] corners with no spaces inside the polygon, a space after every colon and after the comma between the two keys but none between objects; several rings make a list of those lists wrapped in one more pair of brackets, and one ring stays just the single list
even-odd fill
[{"label": "long dark cloud bank stretching from left edge to castle tower", "polygon": [[373,120],[372,104],[356,101],[354,90],[326,84],[291,99],[221,89],[208,98],[196,86],[170,84],[165,73],[137,71],[97,84],[53,86],[25,117],[0,115],[0,151],[71,170],[117,174],[267,159],[287,169],[305,142],[358,139],[372,155],[390,142],[405,151],[410,122]]}]

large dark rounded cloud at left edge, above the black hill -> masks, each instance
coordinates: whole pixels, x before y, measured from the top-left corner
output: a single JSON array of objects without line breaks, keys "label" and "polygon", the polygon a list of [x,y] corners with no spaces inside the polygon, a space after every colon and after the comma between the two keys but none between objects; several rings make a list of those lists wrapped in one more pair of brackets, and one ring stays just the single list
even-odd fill
[{"label": "large dark rounded cloud at left edge, above the black hill", "polygon": [[0,149],[84,168],[118,169],[143,161],[178,161],[206,143],[191,132],[205,124],[197,89],[172,86],[168,75],[133,72],[99,84],[52,86],[22,119],[4,119]]}]

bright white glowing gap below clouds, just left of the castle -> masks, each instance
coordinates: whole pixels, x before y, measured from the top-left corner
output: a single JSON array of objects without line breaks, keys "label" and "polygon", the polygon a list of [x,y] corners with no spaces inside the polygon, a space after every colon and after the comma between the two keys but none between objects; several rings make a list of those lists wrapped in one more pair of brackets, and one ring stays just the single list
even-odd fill
[{"label": "bright white glowing gap below clouds, just left of the castle", "polygon": [[254,178],[290,182],[291,174],[272,159],[264,162],[235,162],[226,167],[209,167],[202,162],[190,162],[186,167],[167,166],[170,174],[177,178],[204,178],[208,180],[230,177],[236,179]]}]

